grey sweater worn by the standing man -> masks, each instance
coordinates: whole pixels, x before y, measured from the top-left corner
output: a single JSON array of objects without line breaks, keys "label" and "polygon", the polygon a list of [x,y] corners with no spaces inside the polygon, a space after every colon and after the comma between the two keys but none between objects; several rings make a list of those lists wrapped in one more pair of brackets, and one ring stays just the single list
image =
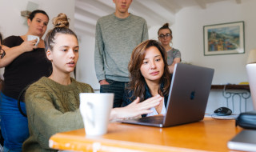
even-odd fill
[{"label": "grey sweater worn by the standing man", "polygon": [[148,39],[146,20],[130,14],[99,18],[96,25],[94,66],[98,81],[129,82],[128,63],[134,47]]}]

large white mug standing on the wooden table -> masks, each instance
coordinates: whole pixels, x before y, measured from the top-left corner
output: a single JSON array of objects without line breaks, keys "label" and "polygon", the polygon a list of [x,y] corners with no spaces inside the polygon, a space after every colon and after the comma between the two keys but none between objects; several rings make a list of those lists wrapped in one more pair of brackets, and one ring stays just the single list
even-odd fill
[{"label": "large white mug standing on the wooden table", "polygon": [[113,107],[114,94],[81,93],[80,113],[84,122],[86,135],[106,134]]}]

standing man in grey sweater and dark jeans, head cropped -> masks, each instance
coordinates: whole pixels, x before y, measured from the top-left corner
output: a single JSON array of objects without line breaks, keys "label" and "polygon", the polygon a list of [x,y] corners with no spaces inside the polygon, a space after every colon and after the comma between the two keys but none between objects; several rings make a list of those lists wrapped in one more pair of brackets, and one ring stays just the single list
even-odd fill
[{"label": "standing man in grey sweater and dark jeans, head cropped", "polygon": [[128,12],[132,0],[113,0],[116,9],[98,19],[94,64],[101,93],[114,93],[114,107],[130,81],[128,62],[135,46],[148,39],[146,20]]}]

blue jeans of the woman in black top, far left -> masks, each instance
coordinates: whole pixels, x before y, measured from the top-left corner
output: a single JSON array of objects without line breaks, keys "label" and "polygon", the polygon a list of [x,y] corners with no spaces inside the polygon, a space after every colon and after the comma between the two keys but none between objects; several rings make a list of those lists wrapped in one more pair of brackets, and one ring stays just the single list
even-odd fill
[{"label": "blue jeans of the woman in black top, far left", "polygon": [[[21,102],[22,111],[26,114],[26,106]],[[1,92],[0,98],[1,130],[4,148],[10,152],[22,151],[22,143],[29,137],[27,118],[18,110],[18,101]]]}]

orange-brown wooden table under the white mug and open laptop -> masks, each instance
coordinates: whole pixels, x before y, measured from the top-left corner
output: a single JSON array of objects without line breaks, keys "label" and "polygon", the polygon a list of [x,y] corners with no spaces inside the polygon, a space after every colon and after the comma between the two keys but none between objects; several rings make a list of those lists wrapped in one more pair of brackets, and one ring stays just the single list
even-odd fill
[{"label": "orange-brown wooden table under the white mug and open laptop", "polygon": [[[54,134],[50,147],[58,150],[93,151],[231,151],[227,142],[242,128],[234,120],[204,118],[181,126],[157,128],[110,123],[108,133],[87,137],[84,129]],[[234,150],[233,150],[234,151]]]}]

